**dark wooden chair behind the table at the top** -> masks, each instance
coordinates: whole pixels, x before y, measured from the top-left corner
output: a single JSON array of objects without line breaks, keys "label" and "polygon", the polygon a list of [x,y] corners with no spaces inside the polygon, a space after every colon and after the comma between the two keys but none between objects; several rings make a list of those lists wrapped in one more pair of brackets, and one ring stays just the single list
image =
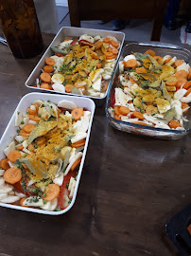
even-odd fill
[{"label": "dark wooden chair behind the table at the top", "polygon": [[82,20],[153,19],[151,41],[160,41],[168,0],[68,0],[72,27]]}]

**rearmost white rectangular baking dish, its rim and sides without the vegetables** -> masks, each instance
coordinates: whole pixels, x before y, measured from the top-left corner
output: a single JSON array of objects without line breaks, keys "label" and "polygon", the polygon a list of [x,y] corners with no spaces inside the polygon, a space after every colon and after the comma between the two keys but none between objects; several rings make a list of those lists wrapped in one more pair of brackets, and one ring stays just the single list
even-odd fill
[{"label": "rearmost white rectangular baking dish, its rim and sides without the vegetables", "polygon": [[[43,65],[44,65],[44,60],[54,54],[54,52],[51,49],[51,46],[59,46],[61,44],[61,42],[63,41],[63,39],[66,38],[66,37],[76,38],[76,37],[79,37],[82,34],[88,34],[88,35],[91,35],[91,36],[100,35],[101,37],[106,37],[106,36],[116,37],[116,39],[121,42],[121,46],[119,48],[118,56],[117,56],[117,59],[116,59],[116,63],[117,63],[117,60],[120,56],[121,49],[122,49],[122,46],[124,44],[124,39],[125,39],[125,34],[123,32],[98,30],[98,29],[91,29],[91,28],[81,28],[81,27],[61,27],[60,31],[57,33],[57,35],[53,39],[50,46],[48,46],[48,48],[44,52],[43,57],[41,58],[39,63],[35,66],[32,73],[30,74],[30,76],[26,80],[26,87],[28,87],[30,89],[34,89],[34,90],[40,90],[40,91],[46,91],[46,92],[54,92],[54,93],[59,93],[59,94],[67,94],[67,95],[77,96],[76,94],[71,94],[71,93],[61,93],[61,92],[42,89],[42,88],[34,88],[34,87],[31,87],[30,85],[33,85],[34,82],[36,82],[36,79],[39,77],[41,69],[43,68]],[[116,66],[116,64],[115,64],[115,66]],[[113,68],[113,70],[114,70],[114,68]],[[112,79],[110,80],[110,82],[111,81],[112,81]],[[109,83],[108,89],[109,89],[109,87],[110,87],[110,83]],[[106,96],[108,94],[108,89],[106,91],[105,96],[102,97],[102,98],[93,97],[93,96],[86,96],[86,95],[78,95],[78,96],[79,97],[82,96],[82,97],[86,97],[86,98],[92,98],[92,99],[96,99],[96,100],[103,100],[103,99],[106,98]]]}]

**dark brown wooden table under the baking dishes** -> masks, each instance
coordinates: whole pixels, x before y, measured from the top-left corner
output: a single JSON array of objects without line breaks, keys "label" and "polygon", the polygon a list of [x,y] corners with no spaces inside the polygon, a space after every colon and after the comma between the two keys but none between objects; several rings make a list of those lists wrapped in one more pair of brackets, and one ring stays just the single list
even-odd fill
[{"label": "dark brown wooden table under the baking dishes", "polygon": [[[52,38],[44,36],[45,46]],[[3,45],[0,56],[2,136],[32,91],[26,78],[41,56],[15,60]],[[189,135],[165,141],[122,133],[97,107],[74,207],[60,216],[0,208],[0,255],[178,255],[165,223],[191,202],[190,158]]]}]

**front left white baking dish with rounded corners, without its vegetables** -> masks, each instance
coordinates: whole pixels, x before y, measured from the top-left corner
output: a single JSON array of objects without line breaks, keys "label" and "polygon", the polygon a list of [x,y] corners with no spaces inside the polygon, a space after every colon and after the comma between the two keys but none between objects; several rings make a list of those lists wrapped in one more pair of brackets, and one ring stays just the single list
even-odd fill
[{"label": "front left white baking dish with rounded corners, without its vegetables", "polygon": [[9,204],[4,204],[4,203],[0,203],[0,206],[11,208],[11,209],[16,209],[16,210],[26,210],[26,211],[32,211],[32,212],[37,212],[37,213],[49,214],[49,215],[60,215],[60,214],[65,213],[66,211],[70,210],[73,207],[73,205],[75,203],[75,200],[76,200],[76,196],[77,196],[77,192],[78,192],[79,179],[80,179],[80,175],[81,175],[82,168],[83,168],[83,163],[84,163],[84,160],[85,160],[85,155],[86,155],[87,148],[88,148],[88,141],[89,141],[91,126],[92,126],[93,117],[94,117],[94,113],[95,113],[95,102],[92,101],[91,99],[87,99],[87,98],[80,98],[80,97],[74,97],[74,96],[68,97],[66,95],[45,94],[45,93],[29,93],[29,94],[26,94],[26,96],[24,96],[21,99],[21,101],[19,102],[14,114],[12,115],[12,118],[9,120],[9,124],[8,124],[3,136],[1,137],[1,140],[0,140],[0,145],[1,145],[0,159],[5,157],[5,155],[3,153],[3,150],[12,141],[12,138],[14,137],[14,135],[16,134],[16,130],[18,129],[18,127],[14,126],[16,111],[19,110],[20,112],[23,112],[23,113],[26,112],[26,109],[30,106],[30,104],[33,101],[36,101],[36,100],[52,101],[56,104],[59,101],[62,101],[62,100],[73,101],[78,105],[78,107],[86,108],[87,110],[89,110],[91,112],[90,125],[89,125],[89,128],[88,128],[86,143],[85,143],[85,146],[84,146],[83,155],[82,155],[82,158],[81,158],[81,163],[80,163],[79,170],[78,170],[78,177],[77,177],[77,183],[76,183],[76,187],[75,187],[74,196],[72,198],[71,204],[65,210],[61,210],[61,211],[39,210],[39,209],[32,209],[32,208],[14,206],[14,205],[9,205]]}]

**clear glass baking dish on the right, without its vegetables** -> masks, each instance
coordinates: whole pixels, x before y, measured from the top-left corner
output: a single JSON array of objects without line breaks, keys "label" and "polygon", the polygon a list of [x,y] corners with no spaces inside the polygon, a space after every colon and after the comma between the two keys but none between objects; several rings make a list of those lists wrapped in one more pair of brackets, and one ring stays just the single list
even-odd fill
[{"label": "clear glass baking dish on the right, without its vegetables", "polygon": [[165,55],[176,56],[178,60],[184,60],[186,63],[191,65],[191,52],[188,49],[183,48],[182,46],[174,46],[171,44],[165,43],[131,43],[124,46],[121,56],[116,68],[113,71],[112,82],[110,84],[109,93],[106,101],[106,116],[109,119],[110,124],[117,130],[144,135],[149,137],[159,137],[165,139],[178,139],[186,135],[191,131],[191,108],[184,114],[184,117],[188,119],[187,122],[184,122],[185,130],[168,130],[162,128],[154,128],[141,124],[128,123],[122,120],[113,119],[110,115],[108,108],[111,107],[111,98],[113,98],[113,90],[115,83],[119,75],[119,62],[124,59],[125,56],[131,54],[132,52],[142,52],[144,53],[148,49],[153,49],[156,52],[156,55],[164,57]]}]

